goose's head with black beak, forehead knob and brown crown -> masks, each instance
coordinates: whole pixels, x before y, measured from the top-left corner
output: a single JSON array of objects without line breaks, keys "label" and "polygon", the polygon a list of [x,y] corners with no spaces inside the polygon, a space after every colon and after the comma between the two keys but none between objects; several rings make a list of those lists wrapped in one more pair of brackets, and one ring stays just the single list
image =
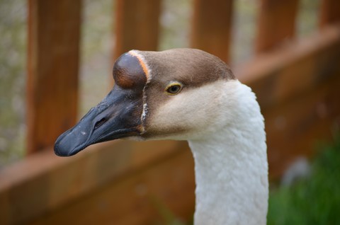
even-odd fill
[{"label": "goose's head with black beak, forehead knob and brown crown", "polygon": [[221,121],[218,108],[225,98],[221,90],[235,78],[207,52],[131,50],[116,60],[113,79],[108,96],[60,135],[55,154],[72,156],[91,144],[120,138],[200,139],[228,122]]}]

